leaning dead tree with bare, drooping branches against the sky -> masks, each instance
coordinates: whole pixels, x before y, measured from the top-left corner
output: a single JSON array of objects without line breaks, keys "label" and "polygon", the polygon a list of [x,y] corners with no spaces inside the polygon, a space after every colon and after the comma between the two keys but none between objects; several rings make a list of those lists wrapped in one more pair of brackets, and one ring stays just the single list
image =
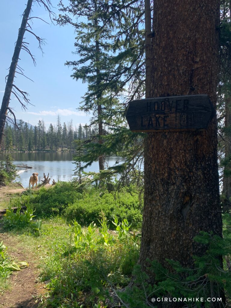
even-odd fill
[{"label": "leaning dead tree with bare, drooping branches against the sky", "polygon": [[[18,101],[20,102],[20,104],[22,106],[22,109],[25,110],[26,104],[30,103],[30,99],[28,99],[28,93],[20,90],[14,84],[14,77],[15,77],[16,73],[25,76],[24,72],[23,72],[24,70],[18,65],[19,54],[20,54],[21,50],[26,51],[30,55],[31,59],[33,60],[34,65],[36,64],[34,55],[32,55],[30,50],[29,50],[29,47],[28,47],[29,43],[24,41],[24,39],[25,39],[24,34],[25,34],[26,31],[33,34],[34,37],[39,42],[39,48],[41,49],[41,51],[43,51],[42,45],[45,43],[44,39],[40,38],[38,35],[36,35],[32,31],[32,27],[30,25],[30,21],[32,21],[33,18],[38,18],[38,19],[43,20],[42,18],[39,18],[39,17],[29,17],[30,12],[31,12],[31,7],[32,7],[33,3],[35,3],[35,2],[39,6],[41,6],[41,5],[44,6],[45,10],[47,10],[49,15],[50,15],[50,19],[53,15],[53,12],[51,11],[52,5],[51,5],[50,0],[28,0],[27,1],[26,9],[25,9],[24,13],[22,14],[22,23],[21,23],[21,26],[18,30],[18,39],[17,39],[17,42],[15,44],[14,54],[13,54],[13,57],[12,57],[12,62],[10,64],[9,74],[6,76],[6,87],[5,87],[5,92],[4,92],[3,99],[2,99],[2,106],[1,106],[1,109],[0,109],[0,148],[1,148],[1,143],[2,143],[3,129],[4,129],[4,126],[5,126],[5,123],[6,123],[6,118],[8,118],[14,124],[14,128],[16,128],[16,127],[18,128],[14,112],[9,107],[11,93],[13,93],[14,96],[18,99]],[[28,78],[28,77],[26,77],[26,78]],[[28,79],[30,79],[30,78],[28,78]],[[12,120],[8,116],[9,113],[10,113],[10,115],[13,115],[14,120]]]}]

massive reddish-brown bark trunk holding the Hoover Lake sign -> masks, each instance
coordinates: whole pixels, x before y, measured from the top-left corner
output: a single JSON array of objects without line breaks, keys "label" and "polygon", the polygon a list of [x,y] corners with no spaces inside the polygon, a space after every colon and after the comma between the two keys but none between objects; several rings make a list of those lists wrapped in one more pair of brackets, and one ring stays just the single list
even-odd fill
[{"label": "massive reddish-brown bark trunk holding the Hoover Lake sign", "polygon": [[[208,94],[216,107],[219,1],[154,1],[151,97]],[[140,263],[192,266],[201,230],[222,235],[217,120],[206,131],[148,133]],[[149,273],[154,280],[153,274]]]}]

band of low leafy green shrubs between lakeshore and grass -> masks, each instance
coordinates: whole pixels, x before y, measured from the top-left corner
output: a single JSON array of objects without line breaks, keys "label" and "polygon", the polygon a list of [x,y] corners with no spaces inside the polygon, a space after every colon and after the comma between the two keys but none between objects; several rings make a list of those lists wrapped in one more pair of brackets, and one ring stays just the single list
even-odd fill
[{"label": "band of low leafy green shrubs between lakeshore and grass", "polygon": [[[70,182],[59,182],[53,187],[27,190],[20,198],[11,200],[12,206],[23,206],[29,201],[37,218],[62,215],[68,221],[76,219],[89,225],[103,215],[109,220],[114,216],[121,221],[132,221],[132,228],[139,229],[142,222],[142,206],[135,188],[122,188],[118,193],[89,186],[76,188]],[[95,221],[99,226],[99,222]],[[113,224],[109,222],[110,228]]]}]

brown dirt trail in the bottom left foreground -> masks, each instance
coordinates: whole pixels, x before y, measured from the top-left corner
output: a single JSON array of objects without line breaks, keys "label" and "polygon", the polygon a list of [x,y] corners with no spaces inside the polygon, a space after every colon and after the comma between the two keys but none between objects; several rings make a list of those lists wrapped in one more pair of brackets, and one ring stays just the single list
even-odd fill
[{"label": "brown dirt trail in the bottom left foreground", "polygon": [[6,233],[0,233],[0,241],[1,239],[4,240],[4,245],[8,247],[7,252],[15,261],[26,261],[30,266],[13,272],[10,276],[12,287],[0,295],[0,308],[37,308],[40,301],[37,303],[35,301],[45,289],[43,284],[36,281],[39,273],[34,266],[33,256],[30,255],[30,251],[23,252],[23,249],[18,247],[17,239],[11,238]]}]

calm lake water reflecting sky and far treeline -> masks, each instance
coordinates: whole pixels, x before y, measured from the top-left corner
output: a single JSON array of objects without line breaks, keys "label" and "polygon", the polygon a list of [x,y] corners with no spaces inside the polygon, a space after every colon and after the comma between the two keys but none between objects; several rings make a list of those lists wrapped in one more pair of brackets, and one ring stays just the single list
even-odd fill
[{"label": "calm lake water reflecting sky and far treeline", "polygon": [[[51,178],[50,184],[54,179],[55,182],[60,181],[69,181],[73,179],[74,169],[76,167],[73,164],[72,154],[70,152],[48,152],[48,153],[12,153],[15,165],[26,164],[32,169],[17,168],[18,170],[25,170],[20,173],[20,177],[17,178],[17,181],[20,181],[23,187],[29,186],[29,179],[33,172],[38,172],[38,183],[41,183],[43,180],[43,172],[47,176],[49,172],[49,177]],[[0,160],[5,160],[4,155],[0,155]],[[105,165],[113,166],[116,161],[123,161],[122,158],[111,156],[106,158]],[[86,172],[99,172],[99,163],[95,161],[91,166],[87,167],[84,171]]]}]

